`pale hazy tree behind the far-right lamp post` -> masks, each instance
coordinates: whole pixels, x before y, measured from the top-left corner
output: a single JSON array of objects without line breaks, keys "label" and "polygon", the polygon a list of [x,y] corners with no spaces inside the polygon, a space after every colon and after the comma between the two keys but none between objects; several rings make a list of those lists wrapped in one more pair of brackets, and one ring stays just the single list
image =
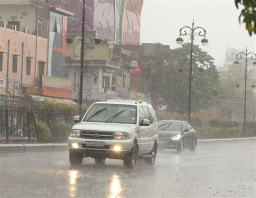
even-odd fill
[{"label": "pale hazy tree behind the far-right lamp post", "polygon": [[[246,91],[246,120],[253,121],[256,117],[256,96],[252,85],[255,80],[251,79],[252,70],[247,73],[247,91]],[[220,83],[224,89],[224,101],[219,104],[223,109],[225,119],[244,119],[244,97],[245,97],[245,67],[230,65],[226,70],[220,72]]]}]

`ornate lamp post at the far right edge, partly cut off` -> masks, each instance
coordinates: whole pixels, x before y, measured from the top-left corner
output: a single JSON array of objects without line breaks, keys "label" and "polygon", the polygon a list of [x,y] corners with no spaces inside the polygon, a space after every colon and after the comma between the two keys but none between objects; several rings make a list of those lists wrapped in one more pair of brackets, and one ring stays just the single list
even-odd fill
[{"label": "ornate lamp post at the far right edge, partly cut off", "polygon": [[[239,61],[238,60],[242,60],[244,59],[245,60],[245,101],[244,101],[244,124],[242,124],[242,132],[244,133],[245,132],[245,123],[246,123],[246,89],[247,89],[247,63],[248,63],[248,60],[255,60],[256,59],[256,54],[253,53],[253,52],[248,52],[247,51],[247,47],[246,47],[246,50],[245,52],[240,52],[238,53],[237,55],[237,60],[234,61],[234,65],[239,65]],[[253,62],[253,65],[256,66],[256,61]],[[237,85],[237,87],[239,87]]]}]

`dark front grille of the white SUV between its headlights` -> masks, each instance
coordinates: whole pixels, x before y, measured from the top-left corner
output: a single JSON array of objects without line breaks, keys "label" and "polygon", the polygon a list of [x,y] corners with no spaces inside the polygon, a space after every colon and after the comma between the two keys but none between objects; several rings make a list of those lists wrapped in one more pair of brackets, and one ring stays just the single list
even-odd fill
[{"label": "dark front grille of the white SUV between its headlights", "polygon": [[84,139],[113,139],[114,132],[105,131],[82,131],[81,137]]}]

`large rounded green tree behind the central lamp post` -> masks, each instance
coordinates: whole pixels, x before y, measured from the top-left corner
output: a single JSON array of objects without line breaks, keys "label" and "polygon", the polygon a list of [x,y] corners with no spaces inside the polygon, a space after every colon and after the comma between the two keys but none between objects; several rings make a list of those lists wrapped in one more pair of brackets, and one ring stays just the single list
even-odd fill
[{"label": "large rounded green tree behind the central lamp post", "polygon": [[[169,62],[164,66],[163,60]],[[194,46],[192,62],[191,112],[212,107],[219,102],[221,88],[219,73],[214,66],[212,56]],[[154,79],[157,94],[167,103],[170,112],[184,113],[188,110],[188,84],[190,69],[190,44],[181,48],[163,50],[154,54],[146,66],[157,66],[157,77]],[[183,72],[178,69],[183,68]],[[199,72],[204,68],[204,72]]]}]

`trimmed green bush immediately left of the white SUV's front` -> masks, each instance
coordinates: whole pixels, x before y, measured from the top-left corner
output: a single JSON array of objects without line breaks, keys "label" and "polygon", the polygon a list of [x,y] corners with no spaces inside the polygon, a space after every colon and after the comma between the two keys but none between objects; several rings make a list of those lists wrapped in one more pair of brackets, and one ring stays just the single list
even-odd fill
[{"label": "trimmed green bush immediately left of the white SUV's front", "polygon": [[52,133],[53,140],[63,140],[69,137],[73,125],[66,123],[49,123],[48,126]]}]

